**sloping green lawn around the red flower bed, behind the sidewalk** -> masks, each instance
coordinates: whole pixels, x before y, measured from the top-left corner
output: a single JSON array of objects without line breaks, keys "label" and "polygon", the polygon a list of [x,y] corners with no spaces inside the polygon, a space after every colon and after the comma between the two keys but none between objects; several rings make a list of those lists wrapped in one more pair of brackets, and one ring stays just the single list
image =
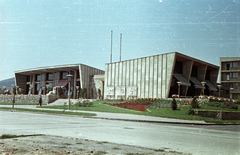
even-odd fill
[{"label": "sloping green lawn around the red flower bed, behind the sidewalk", "polygon": [[[173,111],[172,108],[160,108],[160,109],[148,109],[147,112],[136,111],[131,109],[120,108],[107,104],[102,104],[104,101],[94,101],[92,107],[76,107],[71,105],[72,110],[84,110],[84,111],[99,111],[99,112],[111,112],[111,113],[125,113],[155,117],[166,117],[176,119],[187,119],[187,120],[204,120],[209,123],[240,123],[240,120],[217,120],[209,117],[200,117],[194,115],[187,115],[189,107],[178,107],[178,110]],[[68,105],[62,106],[42,106],[41,108],[53,108],[53,109],[67,109]],[[239,107],[240,108],[240,107]],[[224,110],[224,111],[236,111],[233,109],[223,109],[211,106],[202,106],[198,110]],[[237,110],[240,111],[240,110]]]}]

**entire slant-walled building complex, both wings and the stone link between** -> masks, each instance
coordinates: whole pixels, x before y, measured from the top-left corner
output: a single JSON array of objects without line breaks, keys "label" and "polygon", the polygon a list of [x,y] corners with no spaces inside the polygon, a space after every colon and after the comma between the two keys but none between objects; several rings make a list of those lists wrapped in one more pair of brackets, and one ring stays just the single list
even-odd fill
[{"label": "entire slant-walled building complex, both wings and the stone link between", "polygon": [[[40,67],[15,72],[16,85],[24,94],[68,95],[68,74],[72,74],[71,96],[87,88],[88,98],[168,98],[218,96],[219,67],[181,53],[172,52],[105,64],[105,71],[83,64]],[[93,95],[92,95],[93,94]]]}]

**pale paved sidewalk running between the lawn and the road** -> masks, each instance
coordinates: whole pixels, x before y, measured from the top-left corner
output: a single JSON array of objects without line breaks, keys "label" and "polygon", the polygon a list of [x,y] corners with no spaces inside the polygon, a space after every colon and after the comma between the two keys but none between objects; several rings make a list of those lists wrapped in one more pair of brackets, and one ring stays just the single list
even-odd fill
[{"label": "pale paved sidewalk running between the lawn and the road", "polygon": [[[0,105],[0,107],[12,107],[12,105]],[[62,109],[48,109],[48,108],[36,108],[36,105],[15,105],[15,108],[28,108],[28,109],[39,109],[39,110],[56,110],[62,111]],[[69,111],[69,110],[65,110]],[[88,118],[94,119],[108,119],[108,120],[121,120],[121,121],[134,121],[134,122],[149,122],[149,123],[171,123],[171,124],[192,124],[192,125],[208,125],[204,121],[198,120],[182,120],[182,119],[172,119],[172,118],[162,118],[162,117],[152,117],[152,116],[142,116],[133,114],[121,114],[121,113],[107,113],[107,112],[95,112],[95,111],[80,111],[80,110],[70,110],[72,112],[85,112],[85,113],[95,113],[97,116],[91,116]]]}]

